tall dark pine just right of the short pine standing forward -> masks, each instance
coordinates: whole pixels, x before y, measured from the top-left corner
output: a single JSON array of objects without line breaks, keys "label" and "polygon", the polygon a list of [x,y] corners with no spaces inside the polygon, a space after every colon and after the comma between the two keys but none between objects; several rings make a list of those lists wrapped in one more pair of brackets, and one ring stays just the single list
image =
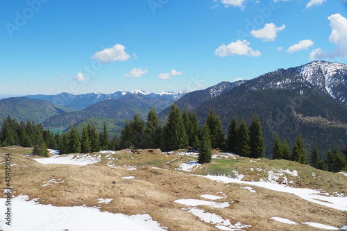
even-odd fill
[{"label": "tall dark pine just right of the short pine standing forward", "polygon": [[208,114],[208,119],[206,119],[208,128],[210,129],[210,137],[212,142],[212,148],[224,148],[225,137],[223,133],[223,127],[221,126],[221,119],[214,114],[211,109]]}]

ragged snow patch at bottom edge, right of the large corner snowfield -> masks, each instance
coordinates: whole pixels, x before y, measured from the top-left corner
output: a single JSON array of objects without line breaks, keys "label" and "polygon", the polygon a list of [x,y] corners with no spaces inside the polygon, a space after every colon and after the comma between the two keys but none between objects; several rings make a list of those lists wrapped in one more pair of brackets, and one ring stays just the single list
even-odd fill
[{"label": "ragged snow patch at bottom edge, right of the large corner snowfield", "polygon": [[205,221],[206,223],[211,223],[215,225],[219,230],[242,230],[242,228],[248,228],[252,225],[244,225],[242,223],[236,223],[232,225],[230,220],[224,220],[221,216],[217,214],[212,214],[210,212],[205,212],[203,209],[198,209],[196,207],[190,208],[187,210],[194,216],[197,216],[201,221]]}]

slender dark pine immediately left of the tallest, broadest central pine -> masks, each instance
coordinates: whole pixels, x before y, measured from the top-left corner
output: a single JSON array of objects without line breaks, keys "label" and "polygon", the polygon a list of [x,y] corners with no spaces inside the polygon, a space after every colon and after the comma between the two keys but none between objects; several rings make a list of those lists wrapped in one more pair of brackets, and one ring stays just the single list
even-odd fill
[{"label": "slender dark pine immediately left of the tallest, broadest central pine", "polygon": [[149,111],[146,123],[145,146],[146,148],[160,148],[162,126],[160,126],[158,114],[155,108]]}]

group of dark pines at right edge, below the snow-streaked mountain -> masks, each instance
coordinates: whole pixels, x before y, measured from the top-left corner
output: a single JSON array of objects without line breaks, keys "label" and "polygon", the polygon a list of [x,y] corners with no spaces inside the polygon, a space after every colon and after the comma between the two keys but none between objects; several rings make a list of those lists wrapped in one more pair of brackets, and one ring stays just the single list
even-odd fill
[{"label": "group of dark pines at right edge, below the snow-streaked mountain", "polygon": [[310,166],[324,171],[339,172],[343,169],[346,170],[347,167],[347,147],[343,151],[339,151],[339,148],[335,146],[326,153],[325,160],[321,160],[318,149],[314,147],[310,153],[310,159],[307,160],[307,151],[301,135],[296,137],[293,148],[290,148],[286,140],[282,140],[279,135],[276,135],[272,153],[273,160],[292,160],[301,164],[310,164]]}]

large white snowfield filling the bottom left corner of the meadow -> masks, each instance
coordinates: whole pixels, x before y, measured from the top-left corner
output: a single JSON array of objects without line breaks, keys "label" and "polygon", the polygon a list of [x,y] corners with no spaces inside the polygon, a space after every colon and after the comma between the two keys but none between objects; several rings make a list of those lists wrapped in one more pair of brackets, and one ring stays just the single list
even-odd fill
[{"label": "large white snowfield filling the bottom left corner of the meadow", "polygon": [[[92,207],[55,207],[40,205],[35,201],[25,201],[28,196],[12,199],[12,221],[0,219],[0,227],[5,231],[34,230],[74,230],[74,231],[159,231],[166,230],[160,223],[153,221],[148,214],[126,216],[101,212]],[[5,198],[0,198],[0,212],[4,213]],[[39,222],[37,218],[40,218]]]}]

